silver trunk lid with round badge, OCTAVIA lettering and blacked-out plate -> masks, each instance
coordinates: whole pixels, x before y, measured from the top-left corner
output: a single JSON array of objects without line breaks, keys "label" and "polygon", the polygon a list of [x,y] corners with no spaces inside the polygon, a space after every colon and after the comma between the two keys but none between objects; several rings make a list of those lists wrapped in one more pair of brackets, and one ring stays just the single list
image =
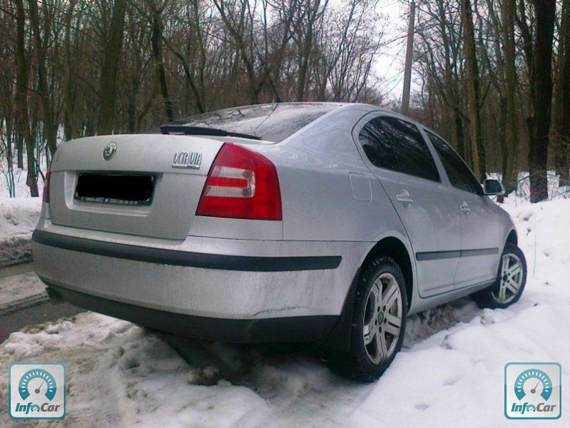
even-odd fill
[{"label": "silver trunk lid with round badge, OCTAVIA lettering and blacked-out plate", "polygon": [[88,137],[51,165],[56,225],[181,240],[223,141],[199,136]]}]

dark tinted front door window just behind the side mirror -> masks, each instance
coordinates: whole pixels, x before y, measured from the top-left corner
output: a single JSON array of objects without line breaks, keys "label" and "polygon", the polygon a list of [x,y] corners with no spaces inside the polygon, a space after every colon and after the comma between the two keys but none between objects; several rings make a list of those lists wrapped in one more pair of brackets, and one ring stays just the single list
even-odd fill
[{"label": "dark tinted front door window just behind the side mirror", "polygon": [[442,138],[429,131],[426,131],[426,133],[429,141],[434,145],[435,151],[437,151],[437,156],[442,161],[443,168],[452,186],[466,192],[482,195],[481,185],[471,170],[467,168],[462,158],[459,158],[459,155]]}]

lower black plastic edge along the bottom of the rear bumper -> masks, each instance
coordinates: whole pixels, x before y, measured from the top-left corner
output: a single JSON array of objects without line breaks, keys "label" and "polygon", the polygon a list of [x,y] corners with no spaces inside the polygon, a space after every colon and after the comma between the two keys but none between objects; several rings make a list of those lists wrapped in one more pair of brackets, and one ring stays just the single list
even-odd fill
[{"label": "lower black plastic edge along the bottom of the rear bumper", "polygon": [[53,285],[43,278],[42,280],[51,292],[56,292],[63,300],[78,307],[131,321],[153,330],[215,342],[322,342],[327,339],[328,333],[338,320],[335,315],[255,320],[197,317],[96,297]]}]

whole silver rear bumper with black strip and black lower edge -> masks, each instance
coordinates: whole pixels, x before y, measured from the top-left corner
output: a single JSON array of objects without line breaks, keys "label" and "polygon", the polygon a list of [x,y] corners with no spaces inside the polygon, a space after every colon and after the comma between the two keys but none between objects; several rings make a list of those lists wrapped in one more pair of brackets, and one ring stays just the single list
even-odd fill
[{"label": "whole silver rear bumper with black strip and black lower edge", "polygon": [[33,240],[36,273],[63,299],[158,330],[237,342],[320,340],[342,314],[369,245],[158,240],[49,218]]}]

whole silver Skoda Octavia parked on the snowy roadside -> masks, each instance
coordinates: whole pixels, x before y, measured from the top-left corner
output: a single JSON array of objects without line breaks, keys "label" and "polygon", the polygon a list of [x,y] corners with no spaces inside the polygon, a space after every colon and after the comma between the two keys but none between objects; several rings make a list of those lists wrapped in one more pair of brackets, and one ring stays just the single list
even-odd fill
[{"label": "whole silver Skoda Octavia parked on the snowy roadside", "polygon": [[316,342],[377,379],[406,317],[519,300],[509,215],[440,136],[375,106],[228,108],[161,133],[80,138],[34,232],[54,299],[221,342]]}]

